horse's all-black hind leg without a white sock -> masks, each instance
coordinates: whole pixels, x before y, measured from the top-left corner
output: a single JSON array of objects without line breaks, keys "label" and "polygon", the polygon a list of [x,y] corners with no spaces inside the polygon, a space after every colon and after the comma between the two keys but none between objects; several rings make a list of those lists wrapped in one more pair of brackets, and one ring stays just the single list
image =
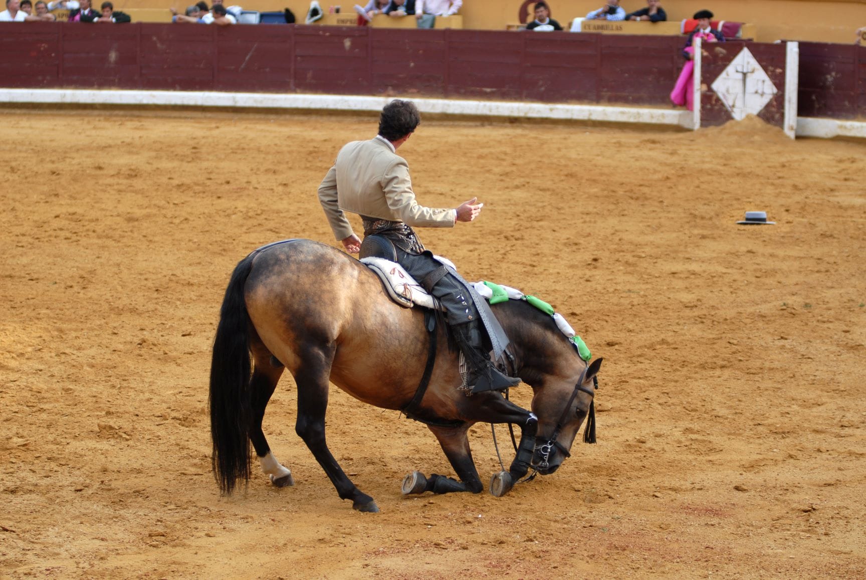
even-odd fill
[{"label": "horse's all-black hind leg without a white sock", "polygon": [[298,385],[298,419],[294,430],[307,443],[307,448],[336,487],[340,499],[352,499],[352,507],[359,512],[378,512],[376,502],[346,476],[325,442],[328,376],[333,352],[330,354],[328,357],[326,352],[317,352],[316,355],[320,356],[307,358],[301,369],[294,373]]}]

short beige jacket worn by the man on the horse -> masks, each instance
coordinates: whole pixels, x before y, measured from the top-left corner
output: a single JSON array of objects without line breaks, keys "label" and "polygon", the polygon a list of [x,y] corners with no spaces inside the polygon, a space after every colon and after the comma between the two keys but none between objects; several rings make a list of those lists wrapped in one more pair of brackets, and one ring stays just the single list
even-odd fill
[{"label": "short beige jacket worn by the man on the horse", "polygon": [[319,186],[319,201],[338,240],[352,235],[344,211],[410,226],[451,228],[456,209],[425,208],[415,201],[409,164],[386,139],[352,141]]}]

